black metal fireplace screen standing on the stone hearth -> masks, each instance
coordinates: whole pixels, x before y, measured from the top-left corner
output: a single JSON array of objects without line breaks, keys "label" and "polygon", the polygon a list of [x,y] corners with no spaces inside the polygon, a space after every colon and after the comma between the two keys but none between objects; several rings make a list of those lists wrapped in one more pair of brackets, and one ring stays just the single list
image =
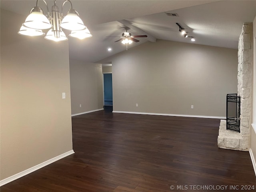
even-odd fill
[{"label": "black metal fireplace screen standing on the stone hearth", "polygon": [[227,94],[227,129],[240,132],[240,96]]}]

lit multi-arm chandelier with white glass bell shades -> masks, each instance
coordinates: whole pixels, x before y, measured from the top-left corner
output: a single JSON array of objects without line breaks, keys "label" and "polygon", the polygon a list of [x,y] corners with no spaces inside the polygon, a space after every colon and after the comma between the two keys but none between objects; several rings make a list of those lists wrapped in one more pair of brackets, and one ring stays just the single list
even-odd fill
[{"label": "lit multi-arm chandelier with white glass bell shades", "polygon": [[[67,29],[71,30],[69,34],[70,37],[78,39],[92,37],[78,12],[73,9],[70,0],[63,2],[61,13],[59,12],[58,6],[56,6],[56,0],[54,0],[54,5],[52,6],[52,12],[49,11],[46,1],[42,0],[46,4],[46,15],[44,15],[42,8],[38,6],[38,1],[39,0],[36,0],[36,6],[30,10],[30,14],[22,24],[18,34],[26,36],[44,36],[45,33],[42,30],[50,29],[44,38],[58,42],[68,40],[65,33],[62,31],[62,29]],[[68,10],[66,16],[64,16],[63,6],[66,2],[70,2],[71,8]]]}]

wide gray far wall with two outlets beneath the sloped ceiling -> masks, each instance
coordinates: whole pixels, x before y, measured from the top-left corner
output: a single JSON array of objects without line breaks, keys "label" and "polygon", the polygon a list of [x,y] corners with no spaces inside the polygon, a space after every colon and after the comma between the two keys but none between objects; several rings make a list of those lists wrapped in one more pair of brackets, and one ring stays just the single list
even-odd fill
[{"label": "wide gray far wall with two outlets beneath the sloped ceiling", "polygon": [[112,62],[115,111],[226,116],[237,92],[234,49],[158,40],[100,62]]}]

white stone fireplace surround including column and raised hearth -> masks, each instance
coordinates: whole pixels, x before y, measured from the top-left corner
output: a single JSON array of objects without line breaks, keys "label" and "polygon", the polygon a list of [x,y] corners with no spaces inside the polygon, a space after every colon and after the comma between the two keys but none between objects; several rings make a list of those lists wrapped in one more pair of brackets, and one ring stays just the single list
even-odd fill
[{"label": "white stone fireplace surround including column and raised hearth", "polygon": [[[244,23],[238,40],[238,96],[240,96],[240,133],[226,129],[226,120],[220,120],[218,147],[248,151],[252,112],[252,23]],[[232,93],[230,93],[232,94]]]}]

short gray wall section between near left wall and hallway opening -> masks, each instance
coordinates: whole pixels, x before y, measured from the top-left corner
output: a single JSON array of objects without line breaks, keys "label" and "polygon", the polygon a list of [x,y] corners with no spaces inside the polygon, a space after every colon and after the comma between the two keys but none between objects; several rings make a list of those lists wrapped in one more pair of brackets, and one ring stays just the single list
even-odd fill
[{"label": "short gray wall section between near left wall and hallway opening", "polygon": [[70,60],[72,114],[103,108],[102,78],[101,64]]}]

